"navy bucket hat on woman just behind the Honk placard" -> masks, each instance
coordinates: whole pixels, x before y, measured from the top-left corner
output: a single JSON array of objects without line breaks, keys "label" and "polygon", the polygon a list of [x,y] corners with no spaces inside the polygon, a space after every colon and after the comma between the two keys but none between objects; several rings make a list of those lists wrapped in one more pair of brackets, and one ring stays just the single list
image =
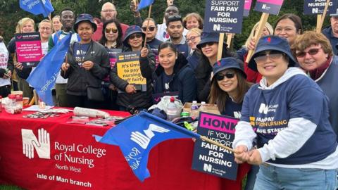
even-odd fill
[{"label": "navy bucket hat on woman just behind the Honk placard", "polygon": [[217,75],[218,72],[230,68],[238,70],[240,73],[242,73],[243,77],[246,78],[243,63],[238,59],[232,57],[222,58],[220,59],[220,61],[217,61],[213,65],[213,78],[215,77],[215,75]]}]

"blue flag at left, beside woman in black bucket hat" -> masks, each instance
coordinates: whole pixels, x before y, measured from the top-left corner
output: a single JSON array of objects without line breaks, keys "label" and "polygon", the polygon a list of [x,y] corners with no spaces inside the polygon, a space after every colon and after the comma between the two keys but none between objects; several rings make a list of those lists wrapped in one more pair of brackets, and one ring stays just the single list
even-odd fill
[{"label": "blue flag at left, beside woman in black bucket hat", "polygon": [[39,99],[42,99],[42,101],[46,102],[49,106],[54,105],[51,88],[54,87],[56,77],[58,77],[58,72],[60,72],[71,37],[72,33],[63,37],[61,42],[58,42],[53,49],[44,56],[39,65],[37,65],[37,68],[35,68],[27,78],[27,82],[37,91]]}]

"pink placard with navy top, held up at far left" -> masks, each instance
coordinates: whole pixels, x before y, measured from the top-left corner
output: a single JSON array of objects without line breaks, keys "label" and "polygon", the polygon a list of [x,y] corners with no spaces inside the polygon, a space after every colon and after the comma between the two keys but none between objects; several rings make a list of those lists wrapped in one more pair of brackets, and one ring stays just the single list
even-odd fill
[{"label": "pink placard with navy top, held up at far left", "polygon": [[24,68],[36,67],[42,58],[39,32],[15,34],[16,56]]}]

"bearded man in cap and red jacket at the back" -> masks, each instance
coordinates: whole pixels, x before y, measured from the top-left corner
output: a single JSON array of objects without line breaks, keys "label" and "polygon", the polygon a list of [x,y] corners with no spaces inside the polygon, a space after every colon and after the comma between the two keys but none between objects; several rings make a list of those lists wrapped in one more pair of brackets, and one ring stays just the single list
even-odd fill
[{"label": "bearded man in cap and red jacket at the back", "polygon": [[[118,11],[116,11],[116,8],[114,4],[111,2],[107,2],[104,4],[101,8],[101,22],[96,23],[97,29],[94,32],[94,35],[92,36],[92,39],[96,42],[99,42],[99,40],[102,37],[102,28],[104,26],[104,22],[106,20],[116,19],[116,15],[118,15]],[[100,21],[100,20],[99,20]],[[128,25],[125,25],[123,23],[120,23],[122,27],[123,35],[125,34],[125,30],[129,27]]]}]

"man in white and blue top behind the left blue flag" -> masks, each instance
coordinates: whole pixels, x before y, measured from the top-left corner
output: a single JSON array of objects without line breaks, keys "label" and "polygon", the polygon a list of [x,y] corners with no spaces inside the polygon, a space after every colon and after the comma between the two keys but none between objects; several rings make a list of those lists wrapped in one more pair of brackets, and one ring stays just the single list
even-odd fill
[{"label": "man in white and blue top behind the left blue flag", "polygon": [[[51,51],[51,49],[59,42],[59,39],[63,39],[67,34],[72,32],[72,38],[70,39],[70,43],[73,42],[79,42],[80,37],[78,34],[73,32],[73,25],[75,22],[75,13],[70,8],[65,8],[60,13],[61,16],[61,23],[63,25],[63,30],[60,30],[58,32],[55,32],[54,34],[51,34],[51,37],[49,37],[48,42],[48,51]],[[56,100],[58,106],[65,106],[67,105],[67,97],[65,94],[66,91],[66,85],[67,85],[67,79],[64,79],[61,77],[60,72],[58,72],[58,77],[56,78],[55,82],[55,91],[56,91]]]}]

